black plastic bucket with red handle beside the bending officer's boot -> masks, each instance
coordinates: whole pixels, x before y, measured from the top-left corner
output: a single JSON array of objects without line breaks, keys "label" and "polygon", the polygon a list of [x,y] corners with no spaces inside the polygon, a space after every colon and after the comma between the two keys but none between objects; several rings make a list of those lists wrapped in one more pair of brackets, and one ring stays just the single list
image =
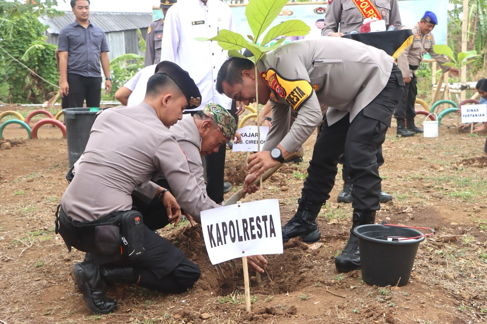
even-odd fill
[{"label": "black plastic bucket with red handle beside the bending officer's boot", "polygon": [[365,282],[379,287],[408,284],[419,243],[425,238],[397,240],[397,237],[421,236],[421,232],[411,228],[369,224],[357,226],[354,233],[358,237],[362,279]]}]

